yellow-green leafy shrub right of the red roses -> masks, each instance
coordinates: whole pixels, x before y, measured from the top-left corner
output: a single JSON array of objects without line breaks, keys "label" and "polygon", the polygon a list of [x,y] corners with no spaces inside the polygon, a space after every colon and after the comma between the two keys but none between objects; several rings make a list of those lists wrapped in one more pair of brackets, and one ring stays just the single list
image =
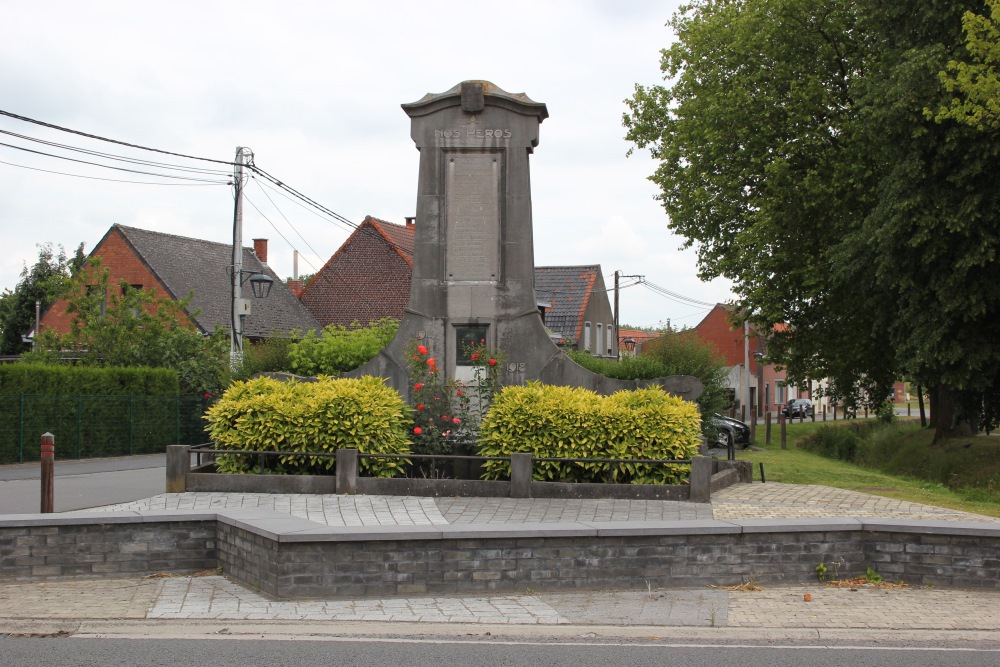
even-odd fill
[{"label": "yellow-green leafy shrub right of the red roses", "polygon": [[[538,458],[690,459],[701,442],[698,408],[662,389],[592,391],[529,382],[505,387],[483,419],[479,453]],[[488,479],[510,475],[506,461],[488,461]],[[686,465],[635,463],[534,464],[536,480],[676,484]]]}]

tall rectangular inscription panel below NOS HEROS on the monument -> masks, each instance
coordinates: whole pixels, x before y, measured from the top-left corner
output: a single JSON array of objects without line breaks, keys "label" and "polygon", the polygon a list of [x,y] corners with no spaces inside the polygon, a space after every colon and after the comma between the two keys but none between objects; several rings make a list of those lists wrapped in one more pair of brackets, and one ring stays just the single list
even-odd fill
[{"label": "tall rectangular inscription panel below NOS HEROS on the monument", "polygon": [[447,279],[495,281],[500,265],[501,157],[452,153],[445,160]]}]

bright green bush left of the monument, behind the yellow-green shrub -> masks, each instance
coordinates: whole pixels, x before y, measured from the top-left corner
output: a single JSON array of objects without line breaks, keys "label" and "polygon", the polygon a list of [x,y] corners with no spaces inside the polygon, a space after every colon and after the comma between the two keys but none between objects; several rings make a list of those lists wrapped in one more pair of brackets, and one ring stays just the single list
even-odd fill
[{"label": "bright green bush left of the monument, behind the yellow-green shrub", "polygon": [[365,364],[389,344],[399,321],[384,317],[368,326],[331,324],[320,336],[309,331],[291,346],[288,360],[299,375],[339,375]]}]

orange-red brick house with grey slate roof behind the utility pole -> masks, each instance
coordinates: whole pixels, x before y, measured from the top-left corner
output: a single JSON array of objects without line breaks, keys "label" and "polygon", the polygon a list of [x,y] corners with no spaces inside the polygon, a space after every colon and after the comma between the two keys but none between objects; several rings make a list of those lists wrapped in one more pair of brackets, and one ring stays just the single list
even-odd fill
[{"label": "orange-red brick house with grey slate roof behind the utility pole", "polygon": [[[174,300],[193,293],[186,310],[188,320],[204,334],[231,326],[231,245],[114,225],[88,257],[101,258],[111,288],[125,281]],[[253,249],[243,249],[243,268],[264,272],[274,280],[266,299],[252,299],[244,328],[247,340],[319,329],[316,319],[267,266],[266,239],[255,239]],[[245,288],[247,297],[249,292]],[[42,316],[42,330],[69,331],[72,318],[67,305],[65,299],[53,303]]]}]

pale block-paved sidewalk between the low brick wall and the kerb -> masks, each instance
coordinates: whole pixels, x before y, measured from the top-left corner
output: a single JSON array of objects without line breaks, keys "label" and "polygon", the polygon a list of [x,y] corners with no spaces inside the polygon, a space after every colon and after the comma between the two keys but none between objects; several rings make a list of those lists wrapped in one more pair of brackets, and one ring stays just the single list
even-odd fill
[{"label": "pale block-paved sidewalk between the low brick wall and the kerb", "polygon": [[[805,593],[812,596],[805,601]],[[28,619],[381,621],[480,625],[1000,629],[1000,592],[816,585],[477,597],[271,600],[220,576],[0,584],[0,634]]]}]

